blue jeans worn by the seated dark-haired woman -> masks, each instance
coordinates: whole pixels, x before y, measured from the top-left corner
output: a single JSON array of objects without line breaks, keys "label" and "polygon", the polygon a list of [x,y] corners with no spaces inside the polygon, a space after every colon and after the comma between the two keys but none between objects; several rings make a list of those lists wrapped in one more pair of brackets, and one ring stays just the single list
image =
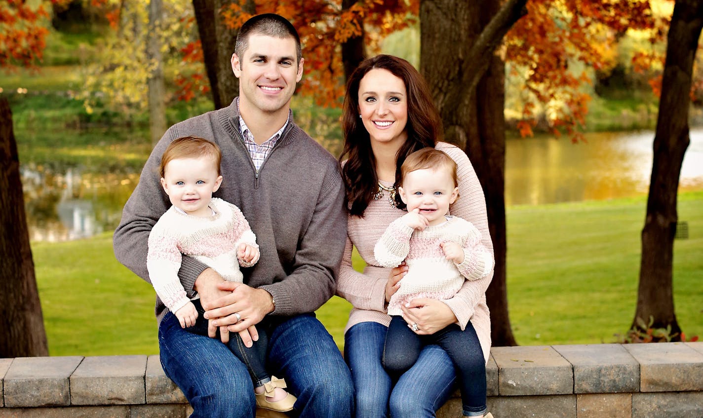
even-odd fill
[{"label": "blue jeans worn by the seated dark-haired woman", "polygon": [[386,332],[377,322],[361,322],[344,335],[344,360],[356,390],[355,417],[435,417],[456,388],[451,358],[439,346],[425,346],[393,386],[382,365]]}]

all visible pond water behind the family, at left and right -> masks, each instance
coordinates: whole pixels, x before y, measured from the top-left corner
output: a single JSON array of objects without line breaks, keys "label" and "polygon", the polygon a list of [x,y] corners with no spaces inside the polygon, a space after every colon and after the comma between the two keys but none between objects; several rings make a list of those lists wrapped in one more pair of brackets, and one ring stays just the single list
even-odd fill
[{"label": "all visible pond water behind the family, at left and right", "polygon": [[[31,240],[74,240],[114,230],[150,151],[146,133],[15,135]],[[338,152],[338,136],[326,138],[323,145]],[[646,195],[653,139],[652,131],[587,133],[578,144],[550,136],[508,139],[505,204]],[[680,183],[680,190],[703,190],[703,129],[691,131]]]}]

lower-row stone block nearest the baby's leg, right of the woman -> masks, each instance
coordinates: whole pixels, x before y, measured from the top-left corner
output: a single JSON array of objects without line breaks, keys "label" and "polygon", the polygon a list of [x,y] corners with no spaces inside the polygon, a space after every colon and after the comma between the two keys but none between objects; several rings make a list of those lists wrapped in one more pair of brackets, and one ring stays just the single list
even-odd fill
[{"label": "lower-row stone block nearest the baby's leg, right of the woman", "polygon": [[496,418],[576,418],[576,395],[500,396],[487,404]]}]

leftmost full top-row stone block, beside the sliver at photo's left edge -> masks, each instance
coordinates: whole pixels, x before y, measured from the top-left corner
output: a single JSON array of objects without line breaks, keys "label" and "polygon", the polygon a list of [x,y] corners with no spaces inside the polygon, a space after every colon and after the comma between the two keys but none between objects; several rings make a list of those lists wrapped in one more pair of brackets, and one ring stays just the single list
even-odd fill
[{"label": "leftmost full top-row stone block, beside the sliver at photo's left edge", "polygon": [[70,405],[68,378],[83,360],[71,357],[15,358],[3,382],[7,407]]}]

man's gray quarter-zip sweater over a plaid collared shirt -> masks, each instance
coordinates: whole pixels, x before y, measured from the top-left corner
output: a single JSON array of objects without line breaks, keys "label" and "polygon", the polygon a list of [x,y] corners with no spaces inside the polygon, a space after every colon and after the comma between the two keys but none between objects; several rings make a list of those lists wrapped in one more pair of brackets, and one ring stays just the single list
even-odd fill
[{"label": "man's gray quarter-zip sweater over a plaid collared shirt", "polygon": [[[117,260],[149,282],[151,228],[171,206],[160,185],[161,156],[181,136],[200,136],[222,150],[222,185],[214,193],[236,204],[257,235],[261,258],[244,282],[276,301],[272,315],[313,312],[335,293],[347,237],[344,185],[335,158],[292,120],[257,172],[239,130],[236,99],[228,107],[171,126],[151,152],[127,200],[113,245]],[[207,266],[184,256],[179,271],[188,297]],[[157,298],[160,321],[167,309]]]}]

